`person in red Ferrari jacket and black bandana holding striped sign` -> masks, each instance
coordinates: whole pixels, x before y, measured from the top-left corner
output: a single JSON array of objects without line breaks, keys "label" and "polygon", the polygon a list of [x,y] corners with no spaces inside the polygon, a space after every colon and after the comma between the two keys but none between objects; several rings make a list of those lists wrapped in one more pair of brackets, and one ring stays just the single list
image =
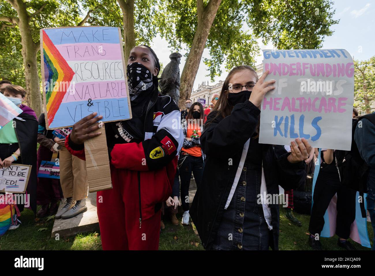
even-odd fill
[{"label": "person in red Ferrari jacket and black bandana holding striped sign", "polygon": [[[180,110],[159,93],[159,59],[145,45],[130,51],[127,65],[133,118],[105,124],[113,188],[97,193],[104,250],[157,250],[160,208],[171,195],[183,133]],[[73,125],[65,146],[85,158],[84,141],[98,136],[94,112]]]}]

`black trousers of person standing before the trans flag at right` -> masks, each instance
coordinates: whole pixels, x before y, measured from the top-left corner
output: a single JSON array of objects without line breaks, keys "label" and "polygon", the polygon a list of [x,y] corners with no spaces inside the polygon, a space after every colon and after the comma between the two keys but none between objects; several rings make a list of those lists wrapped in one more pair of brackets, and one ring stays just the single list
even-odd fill
[{"label": "black trousers of person standing before the trans flag at right", "polygon": [[312,205],[309,231],[316,235],[323,230],[324,214],[331,199],[337,193],[336,235],[347,239],[350,235],[350,225],[356,219],[356,191],[343,186],[339,174],[328,167],[321,169],[315,183],[314,204]]}]

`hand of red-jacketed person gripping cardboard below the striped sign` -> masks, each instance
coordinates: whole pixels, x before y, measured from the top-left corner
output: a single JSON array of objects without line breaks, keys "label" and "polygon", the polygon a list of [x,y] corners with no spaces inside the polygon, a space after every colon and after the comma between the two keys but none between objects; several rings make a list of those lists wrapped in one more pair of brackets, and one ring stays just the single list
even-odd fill
[{"label": "hand of red-jacketed person gripping cardboard below the striped sign", "polygon": [[73,143],[83,144],[86,140],[101,134],[101,132],[93,133],[93,131],[99,129],[99,124],[97,122],[103,118],[102,115],[95,117],[96,114],[97,113],[94,112],[73,125],[71,133],[71,140]]}]

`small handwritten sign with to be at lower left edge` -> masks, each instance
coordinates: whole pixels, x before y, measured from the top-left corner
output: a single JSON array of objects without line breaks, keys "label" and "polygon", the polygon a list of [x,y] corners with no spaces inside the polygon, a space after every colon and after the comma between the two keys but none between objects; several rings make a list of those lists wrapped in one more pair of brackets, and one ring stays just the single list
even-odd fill
[{"label": "small handwritten sign with to be at lower left edge", "polygon": [[1,193],[25,193],[31,166],[12,163],[9,167],[0,168]]}]

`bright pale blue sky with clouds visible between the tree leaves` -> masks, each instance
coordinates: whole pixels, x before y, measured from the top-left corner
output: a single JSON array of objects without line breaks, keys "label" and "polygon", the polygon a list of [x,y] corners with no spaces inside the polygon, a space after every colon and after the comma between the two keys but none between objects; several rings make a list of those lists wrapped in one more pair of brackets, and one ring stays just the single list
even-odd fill
[{"label": "bright pale blue sky with clouds visible between the tree leaves", "polygon": [[[294,0],[296,1],[296,0]],[[375,55],[375,1],[374,0],[335,0],[333,9],[336,9],[333,19],[340,20],[338,24],[332,27],[334,30],[332,36],[324,39],[323,49],[343,48],[347,50],[355,59],[364,60],[369,59]],[[258,40],[261,49],[272,49],[272,44],[264,45],[261,40]],[[169,62],[169,54],[171,50],[168,48],[168,43],[159,36],[154,38],[152,48],[155,50],[160,62],[167,65]],[[181,51],[181,54],[184,54]],[[205,49],[203,57],[209,57],[208,50]],[[202,58],[203,60],[203,58]],[[260,55],[256,57],[257,64],[261,63],[263,57]],[[185,64],[184,57],[181,59],[180,71],[182,72]],[[224,80],[227,72],[222,66],[222,75],[216,77],[214,83],[219,80]],[[202,81],[210,81],[207,66],[201,61],[198,73],[194,82],[194,90],[198,88],[198,84]]]}]

